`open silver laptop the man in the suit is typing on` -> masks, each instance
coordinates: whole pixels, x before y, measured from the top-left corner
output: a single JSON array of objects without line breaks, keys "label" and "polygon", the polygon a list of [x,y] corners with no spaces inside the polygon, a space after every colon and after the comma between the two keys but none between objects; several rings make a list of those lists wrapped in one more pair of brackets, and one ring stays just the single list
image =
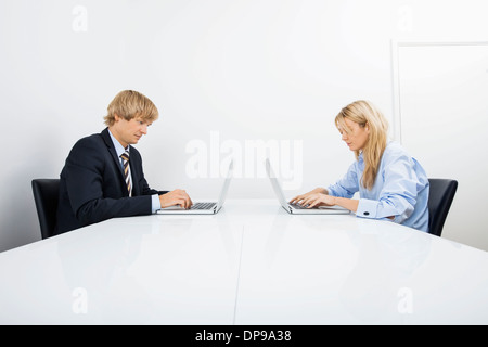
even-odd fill
[{"label": "open silver laptop the man in the suit is typing on", "polygon": [[229,169],[227,171],[226,180],[223,181],[223,187],[220,191],[220,196],[217,202],[198,202],[193,203],[190,208],[182,208],[179,206],[170,206],[166,208],[158,209],[156,214],[158,215],[215,215],[220,208],[223,206],[223,202],[226,201],[227,191],[229,190],[229,184],[232,178],[232,170],[234,168],[234,164],[231,160],[229,163]]}]

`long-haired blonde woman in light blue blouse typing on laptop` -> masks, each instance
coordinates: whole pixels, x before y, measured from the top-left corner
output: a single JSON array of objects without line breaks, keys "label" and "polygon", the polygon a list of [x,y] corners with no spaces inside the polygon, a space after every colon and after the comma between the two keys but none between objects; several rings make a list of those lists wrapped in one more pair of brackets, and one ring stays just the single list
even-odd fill
[{"label": "long-haired blonde woman in light blue blouse typing on laptop", "polygon": [[[346,176],[291,200],[309,208],[338,205],[358,217],[389,219],[428,231],[428,179],[422,166],[387,140],[388,123],[368,101],[356,101],[335,117],[335,125],[356,162]],[[359,200],[351,198],[359,191]]]}]

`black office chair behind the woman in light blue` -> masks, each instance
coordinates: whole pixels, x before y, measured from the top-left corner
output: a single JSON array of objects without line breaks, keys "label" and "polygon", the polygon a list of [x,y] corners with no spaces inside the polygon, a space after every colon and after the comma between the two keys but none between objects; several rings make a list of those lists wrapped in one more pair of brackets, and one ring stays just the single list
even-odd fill
[{"label": "black office chair behind the woman in light blue", "polygon": [[428,194],[428,233],[440,237],[444,222],[451,208],[458,190],[458,181],[441,178],[429,178]]}]

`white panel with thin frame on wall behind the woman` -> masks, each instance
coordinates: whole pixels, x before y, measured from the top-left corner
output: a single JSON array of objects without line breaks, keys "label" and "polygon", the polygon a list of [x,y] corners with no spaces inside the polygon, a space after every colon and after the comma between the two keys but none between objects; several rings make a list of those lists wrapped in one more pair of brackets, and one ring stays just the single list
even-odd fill
[{"label": "white panel with thin frame on wall behind the woman", "polygon": [[396,136],[459,181],[442,236],[488,250],[488,42],[394,44]]}]

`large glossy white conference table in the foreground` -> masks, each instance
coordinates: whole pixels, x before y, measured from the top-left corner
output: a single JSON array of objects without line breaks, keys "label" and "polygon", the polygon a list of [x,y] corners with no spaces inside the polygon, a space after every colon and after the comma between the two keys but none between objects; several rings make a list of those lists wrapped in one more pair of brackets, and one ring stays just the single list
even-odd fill
[{"label": "large glossy white conference table in the foreground", "polygon": [[274,200],[115,218],[0,253],[0,324],[487,324],[488,253]]}]

